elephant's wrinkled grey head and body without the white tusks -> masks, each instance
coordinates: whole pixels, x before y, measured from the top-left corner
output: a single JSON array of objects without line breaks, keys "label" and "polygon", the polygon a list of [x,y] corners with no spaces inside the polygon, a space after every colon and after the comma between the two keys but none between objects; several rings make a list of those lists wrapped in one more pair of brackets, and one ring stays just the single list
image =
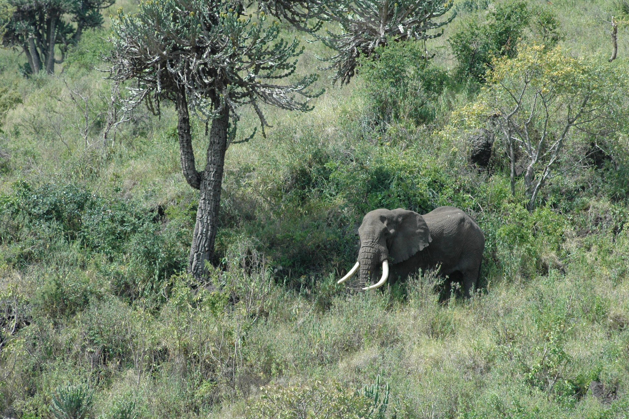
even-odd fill
[{"label": "elephant's wrinkled grey head and body without the white tusks", "polygon": [[459,208],[441,206],[423,216],[402,208],[374,210],[363,218],[359,235],[360,288],[377,282],[389,260],[387,282],[441,264],[440,275],[461,281],[466,297],[476,290],[485,237]]}]

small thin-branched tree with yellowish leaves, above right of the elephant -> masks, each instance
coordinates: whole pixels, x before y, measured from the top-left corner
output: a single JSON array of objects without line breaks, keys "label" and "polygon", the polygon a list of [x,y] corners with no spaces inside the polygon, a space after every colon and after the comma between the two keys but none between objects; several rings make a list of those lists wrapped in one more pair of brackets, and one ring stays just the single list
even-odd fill
[{"label": "small thin-branched tree with yellowish leaves, above right of the elephant", "polygon": [[489,120],[498,126],[509,155],[514,195],[516,151],[520,150],[526,159],[526,206],[533,211],[540,189],[567,144],[581,135],[609,135],[626,125],[626,69],[539,45],[493,65],[477,101],[458,111],[455,118],[472,125]]}]

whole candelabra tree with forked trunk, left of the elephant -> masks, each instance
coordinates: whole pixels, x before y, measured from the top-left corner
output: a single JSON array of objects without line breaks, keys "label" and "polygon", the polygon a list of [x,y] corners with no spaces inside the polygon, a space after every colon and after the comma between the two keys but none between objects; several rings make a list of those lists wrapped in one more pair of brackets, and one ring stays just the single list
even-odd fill
[{"label": "whole candelabra tree with forked trunk, left of the elephant", "polygon": [[[240,4],[220,0],[148,0],[136,13],[119,10],[114,19],[109,77],[114,85],[136,81],[128,87],[126,109],[145,101],[159,112],[163,99],[177,108],[181,167],[188,184],[199,189],[188,264],[196,279],[204,277],[205,262],[213,258],[225,151],[235,137],[237,108],[252,106],[264,134],[269,125],[260,103],[308,111],[308,98],[316,96],[308,91],[316,75],[277,84],[294,74],[303,52],[298,39],[278,39],[279,24],[267,23],[264,12],[255,21],[244,13]],[[204,170],[196,168],[189,109],[211,121]]]}]

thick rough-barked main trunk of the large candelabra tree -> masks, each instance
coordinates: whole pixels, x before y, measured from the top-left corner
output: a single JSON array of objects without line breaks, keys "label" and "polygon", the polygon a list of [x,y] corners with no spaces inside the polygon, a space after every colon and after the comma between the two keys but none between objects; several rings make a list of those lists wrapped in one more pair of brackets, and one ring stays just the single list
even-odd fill
[{"label": "thick rough-barked main trunk of the large candelabra tree", "polygon": [[222,115],[212,121],[209,130],[208,155],[205,170],[200,174],[199,208],[188,259],[188,270],[195,279],[203,279],[206,276],[205,261],[212,260],[214,256],[228,122],[229,109],[225,108]]}]

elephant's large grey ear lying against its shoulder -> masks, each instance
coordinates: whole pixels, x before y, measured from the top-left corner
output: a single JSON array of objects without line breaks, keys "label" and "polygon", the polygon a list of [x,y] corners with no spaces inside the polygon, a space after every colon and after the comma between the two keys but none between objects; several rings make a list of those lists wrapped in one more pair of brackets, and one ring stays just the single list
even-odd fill
[{"label": "elephant's large grey ear lying against its shoulder", "polygon": [[398,208],[391,212],[396,222],[389,227],[395,230],[389,256],[392,257],[393,264],[398,264],[423,250],[432,241],[432,237],[423,216],[415,211]]}]

